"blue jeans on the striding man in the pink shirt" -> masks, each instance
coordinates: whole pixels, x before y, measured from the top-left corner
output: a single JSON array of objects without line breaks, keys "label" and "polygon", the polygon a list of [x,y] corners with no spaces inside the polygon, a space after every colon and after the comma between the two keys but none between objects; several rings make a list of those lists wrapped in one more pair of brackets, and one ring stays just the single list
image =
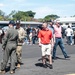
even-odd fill
[{"label": "blue jeans on the striding man in the pink shirt", "polygon": [[55,45],[54,45],[54,48],[53,48],[53,58],[56,58],[56,48],[57,48],[58,45],[61,48],[61,51],[62,51],[64,57],[67,57],[67,53],[65,51],[65,47],[64,47],[62,38],[55,38],[55,41],[56,42],[55,42]]}]

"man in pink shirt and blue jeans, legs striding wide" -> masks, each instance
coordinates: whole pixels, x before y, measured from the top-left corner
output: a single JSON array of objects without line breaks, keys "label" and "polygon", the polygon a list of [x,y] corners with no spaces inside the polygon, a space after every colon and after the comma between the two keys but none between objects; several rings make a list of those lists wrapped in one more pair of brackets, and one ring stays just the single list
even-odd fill
[{"label": "man in pink shirt and blue jeans, legs striding wide", "polygon": [[56,48],[58,45],[61,48],[64,57],[69,58],[62,40],[62,28],[58,22],[56,22],[56,24],[54,25],[54,31],[55,31],[55,44],[53,48],[53,59],[56,59]]}]

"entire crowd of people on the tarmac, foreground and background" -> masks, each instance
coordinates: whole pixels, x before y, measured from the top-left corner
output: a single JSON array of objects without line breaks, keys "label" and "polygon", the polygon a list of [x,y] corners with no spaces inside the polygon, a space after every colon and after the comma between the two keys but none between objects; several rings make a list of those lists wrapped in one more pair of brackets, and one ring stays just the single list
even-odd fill
[{"label": "entire crowd of people on the tarmac, foreground and background", "polygon": [[[9,21],[9,29],[6,33],[0,29],[0,43],[2,43],[3,49],[3,61],[1,62],[0,73],[5,73],[5,69],[10,58],[10,73],[15,73],[15,68],[20,68],[22,63],[22,45],[25,43],[29,45],[35,45],[36,42],[41,47],[42,53],[42,63],[43,67],[53,69],[52,60],[56,59],[56,49],[59,45],[64,58],[69,58],[63,38],[66,37],[67,43],[73,45],[72,35],[73,30],[70,26],[63,30],[62,26],[58,22],[49,23],[44,22],[42,26],[38,28],[27,29],[21,27],[20,21],[15,22],[13,20]],[[75,36],[74,36],[75,38]],[[74,42],[75,43],[75,42]],[[49,64],[46,62],[46,57],[49,60]]]}]

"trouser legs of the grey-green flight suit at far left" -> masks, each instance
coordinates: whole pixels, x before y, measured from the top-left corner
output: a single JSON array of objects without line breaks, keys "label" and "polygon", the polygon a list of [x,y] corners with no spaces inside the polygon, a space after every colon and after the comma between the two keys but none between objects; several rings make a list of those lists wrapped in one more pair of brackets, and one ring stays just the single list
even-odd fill
[{"label": "trouser legs of the grey-green flight suit at far left", "polygon": [[16,48],[11,47],[12,44],[8,45],[6,49],[3,51],[3,62],[1,63],[1,70],[5,70],[8,60],[10,58],[10,70],[15,69],[16,62]]}]

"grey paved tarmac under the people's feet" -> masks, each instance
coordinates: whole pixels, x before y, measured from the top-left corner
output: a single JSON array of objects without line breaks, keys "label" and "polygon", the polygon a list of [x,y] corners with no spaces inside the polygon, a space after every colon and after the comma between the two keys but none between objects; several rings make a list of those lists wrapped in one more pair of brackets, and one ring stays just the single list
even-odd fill
[{"label": "grey paved tarmac under the people's feet", "polygon": [[[41,50],[38,45],[23,45],[22,62],[20,69],[16,69],[13,75],[75,75],[75,46],[65,45],[69,59],[64,56],[57,48],[57,60],[53,62],[53,69],[43,68],[41,58]],[[2,49],[0,45],[0,61],[2,60]],[[2,75],[2,74],[0,74]],[[9,71],[5,75],[10,75]]]}]

